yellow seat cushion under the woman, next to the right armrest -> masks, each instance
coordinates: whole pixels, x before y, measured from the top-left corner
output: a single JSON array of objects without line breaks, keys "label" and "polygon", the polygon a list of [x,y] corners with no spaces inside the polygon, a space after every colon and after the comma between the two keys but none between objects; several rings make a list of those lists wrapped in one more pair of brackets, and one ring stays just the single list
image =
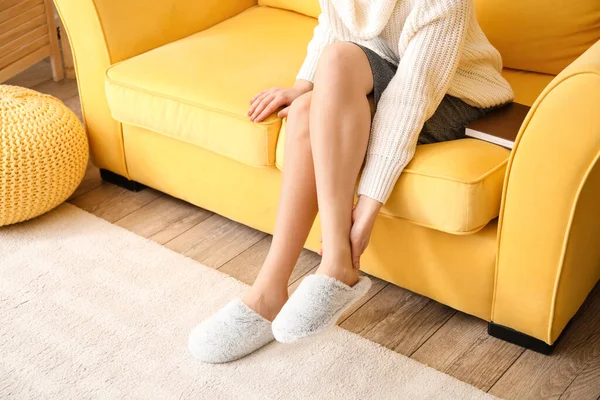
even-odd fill
[{"label": "yellow seat cushion under the woman, next to the right armrest", "polygon": [[[276,165],[284,168],[285,124]],[[510,151],[476,139],[417,146],[381,214],[456,235],[475,233],[500,213]]]}]

